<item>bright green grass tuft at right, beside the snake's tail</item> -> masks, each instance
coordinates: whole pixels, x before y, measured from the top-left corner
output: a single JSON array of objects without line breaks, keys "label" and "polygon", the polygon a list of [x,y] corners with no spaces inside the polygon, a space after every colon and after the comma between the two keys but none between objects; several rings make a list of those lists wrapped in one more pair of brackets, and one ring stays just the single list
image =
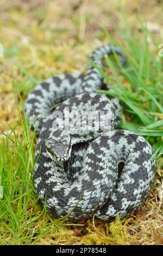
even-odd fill
[{"label": "bright green grass tuft at right, beside the snake's tail", "polygon": [[[98,89],[97,92],[117,97],[123,106],[121,129],[131,130],[145,136],[152,144],[153,156],[160,157],[163,154],[162,59],[156,59],[150,51],[147,38],[152,36],[147,29],[144,33],[143,42],[140,38],[136,42],[134,38],[127,41],[125,52],[128,61],[126,65],[122,66],[115,54],[121,76],[115,64],[108,57],[105,58],[106,64],[112,76],[92,64],[101,72],[112,89],[111,91]],[[112,44],[121,46],[108,32],[106,35]],[[139,51],[135,52],[135,44]]]}]

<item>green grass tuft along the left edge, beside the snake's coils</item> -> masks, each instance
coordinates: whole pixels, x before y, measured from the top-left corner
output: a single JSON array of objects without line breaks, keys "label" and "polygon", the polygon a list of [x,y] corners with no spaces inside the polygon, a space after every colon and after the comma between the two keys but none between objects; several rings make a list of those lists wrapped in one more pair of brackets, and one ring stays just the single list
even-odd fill
[{"label": "green grass tuft along the left edge, beside the snake's coils", "polygon": [[4,135],[1,144],[0,245],[31,245],[61,228],[38,203],[32,181],[35,133],[30,133],[22,101],[22,113],[18,107],[16,94],[20,94],[15,82],[13,90],[22,130],[17,135],[10,127],[10,134]]}]

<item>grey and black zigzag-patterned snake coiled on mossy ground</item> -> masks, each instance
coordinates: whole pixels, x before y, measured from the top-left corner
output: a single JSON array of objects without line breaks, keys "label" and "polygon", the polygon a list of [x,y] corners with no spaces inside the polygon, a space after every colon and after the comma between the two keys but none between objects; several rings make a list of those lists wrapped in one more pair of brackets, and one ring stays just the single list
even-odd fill
[{"label": "grey and black zigzag-patterned snake coiled on mossy ground", "polygon": [[[145,138],[117,130],[121,122],[118,99],[96,93],[107,88],[94,66],[103,69],[105,54],[126,56],[117,46],[103,45],[90,56],[86,75],[58,75],[43,81],[25,102],[26,115],[37,132],[34,186],[49,214],[78,221],[93,215],[101,220],[127,216],[145,200],[156,163]],[[96,65],[92,64],[95,63]],[[60,103],[55,110],[49,111]],[[70,129],[64,129],[67,108]],[[74,113],[102,111],[91,129],[73,129]],[[44,113],[44,114],[43,114]],[[102,129],[110,114],[110,129]],[[55,115],[56,114],[56,115]],[[90,114],[91,115],[91,114]],[[76,118],[76,127],[80,125]],[[57,125],[54,125],[57,124]],[[98,124],[98,129],[93,129]]]}]

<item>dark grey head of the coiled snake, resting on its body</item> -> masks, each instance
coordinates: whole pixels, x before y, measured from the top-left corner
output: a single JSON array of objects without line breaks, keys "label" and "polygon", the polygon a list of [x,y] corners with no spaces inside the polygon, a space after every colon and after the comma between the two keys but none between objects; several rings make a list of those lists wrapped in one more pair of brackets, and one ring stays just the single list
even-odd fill
[{"label": "dark grey head of the coiled snake, resting on its body", "polygon": [[55,162],[65,162],[71,154],[71,137],[53,138],[50,137],[45,141],[46,151]]}]

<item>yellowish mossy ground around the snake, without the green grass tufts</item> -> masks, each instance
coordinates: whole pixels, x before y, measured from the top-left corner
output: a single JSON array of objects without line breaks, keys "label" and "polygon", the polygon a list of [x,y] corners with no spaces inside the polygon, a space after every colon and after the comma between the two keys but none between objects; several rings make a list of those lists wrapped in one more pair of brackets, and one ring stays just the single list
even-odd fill
[{"label": "yellowish mossy ground around the snake, without the green grass tufts", "polygon": [[[4,57],[0,57],[0,131],[8,134],[11,132],[11,139],[15,140],[17,135],[21,141],[22,123],[15,103],[12,79],[14,78],[24,100],[35,84],[44,78],[62,73],[84,72],[87,54],[102,43],[108,42],[102,27],[121,41],[121,34],[118,31],[121,28],[123,31],[125,27],[122,9],[125,11],[133,36],[139,28],[140,38],[143,37],[143,29],[139,22],[141,12],[143,19],[147,21],[149,32],[158,43],[163,42],[160,41],[163,20],[161,1],[124,0],[121,3],[122,8],[120,1],[105,0],[15,0],[12,4],[10,1],[0,2],[0,43],[4,47]],[[151,51],[155,54],[158,51],[152,42]],[[21,102],[18,96],[16,97],[22,110]],[[163,119],[162,116],[160,119]],[[10,127],[15,127],[16,135]],[[19,149],[22,149],[22,155],[25,156],[27,153],[23,145],[19,145]],[[17,153],[11,145],[8,145],[8,148],[8,153],[4,151],[8,154],[4,156],[7,160],[5,164],[7,168],[10,165],[10,168],[16,170],[16,165],[20,164],[16,162]],[[32,153],[33,151],[30,152],[30,157]],[[28,207],[26,205],[24,209],[25,217],[21,216],[18,219],[13,208],[12,217],[16,217],[15,222],[11,222],[11,216],[4,217],[4,213],[1,215],[0,212],[0,244],[161,245],[161,175],[160,168],[146,203],[139,210],[123,221],[117,218],[111,223],[98,220],[78,224],[56,222],[42,210],[33,188],[29,186],[29,190],[33,192],[30,202],[27,202]],[[32,185],[32,179],[30,184]],[[12,223],[11,227],[8,223]],[[21,238],[18,238],[19,231],[22,231]]]}]

